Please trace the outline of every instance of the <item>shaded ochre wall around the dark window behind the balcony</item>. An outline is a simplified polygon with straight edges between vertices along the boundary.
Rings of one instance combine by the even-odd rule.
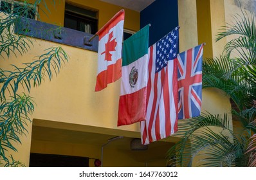
[[[64,26],[65,1],[56,1],[55,4],[51,3],[51,0],[46,0],[46,2],[48,2],[47,7],[50,12],[48,12],[42,2],[39,6],[41,21]],[[93,10],[98,10],[98,29],[102,28],[102,26],[104,26],[104,24],[109,21],[114,14],[122,10],[122,7],[120,6],[99,0],[69,0],[66,2],[80,6],[81,8],[92,8]],[[133,31],[140,30],[140,13],[127,8],[123,9],[125,10],[124,28]]]

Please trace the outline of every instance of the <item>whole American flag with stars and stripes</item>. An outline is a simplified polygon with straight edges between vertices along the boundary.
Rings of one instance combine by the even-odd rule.
[[[167,138],[178,129],[178,29],[149,47],[146,120],[141,122],[142,144]]]

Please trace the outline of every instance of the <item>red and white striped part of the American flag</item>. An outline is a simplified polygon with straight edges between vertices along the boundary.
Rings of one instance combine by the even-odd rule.
[[[146,120],[141,122],[142,143],[167,138],[178,130],[177,59],[155,73],[156,44],[149,48]]]

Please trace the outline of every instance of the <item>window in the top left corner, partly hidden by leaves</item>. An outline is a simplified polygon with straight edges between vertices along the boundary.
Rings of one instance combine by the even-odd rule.
[[[0,12],[19,14],[23,17],[36,19],[32,4],[22,3],[18,1],[0,0]]]

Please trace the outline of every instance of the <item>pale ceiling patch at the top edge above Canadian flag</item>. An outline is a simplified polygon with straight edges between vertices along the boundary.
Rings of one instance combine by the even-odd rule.
[[[155,0],[100,0],[106,3],[115,4],[123,8],[128,8],[137,12],[141,12],[149,4],[153,3]]]

